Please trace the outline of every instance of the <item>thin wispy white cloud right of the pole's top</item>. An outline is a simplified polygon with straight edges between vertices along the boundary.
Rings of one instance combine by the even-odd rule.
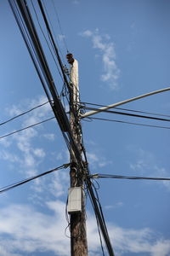
[[[110,40],[109,35],[99,34],[99,30],[95,32],[86,30],[81,33],[82,37],[91,38],[95,49],[99,49],[103,62],[104,73],[101,75],[101,80],[108,82],[111,90],[117,90],[117,80],[120,76],[120,70],[116,65],[115,45]]]

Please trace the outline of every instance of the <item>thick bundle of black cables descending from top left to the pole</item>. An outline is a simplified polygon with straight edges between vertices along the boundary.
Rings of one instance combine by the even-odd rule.
[[[59,102],[59,96],[55,88],[54,79],[48,68],[48,62],[43,53],[42,44],[40,43],[40,40],[37,36],[37,30],[34,26],[33,20],[31,19],[29,8],[26,5],[26,2],[20,0],[17,1],[18,8],[14,1],[8,0],[8,2],[11,6],[11,9],[13,10],[17,24],[20,27],[20,32],[31,55],[31,60],[34,63],[38,76],[42,82],[42,87],[45,90],[46,95],[48,96],[48,101],[50,102],[51,96],[54,100],[54,103],[50,102],[50,105],[54,111],[55,118],[58,120],[59,127],[63,133],[63,136],[65,137],[65,140],[67,140],[66,143],[69,144],[69,146],[70,144],[74,144],[74,149],[76,150],[76,145],[73,140],[71,139],[70,143],[68,138],[64,134],[65,132],[63,131],[64,129],[65,131],[67,131],[67,128],[69,130],[67,117],[64,113],[64,109],[62,108],[61,103]],[[50,91],[50,93],[48,92],[48,90]],[[63,125],[65,125],[65,128],[63,127]],[[68,137],[71,137],[70,132],[68,132]],[[69,150],[71,151],[71,148],[69,148]]]

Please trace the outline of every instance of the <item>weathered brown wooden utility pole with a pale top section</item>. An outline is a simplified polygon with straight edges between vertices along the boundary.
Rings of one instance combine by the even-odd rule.
[[[79,117],[79,90],[78,90],[78,63],[73,59],[71,54],[66,55],[68,62],[71,65],[70,70],[70,123],[71,131],[77,148],[82,154],[82,132]],[[71,256],[87,256],[88,242],[86,233],[86,212],[83,193],[83,170],[77,164],[77,159],[74,154],[71,154],[71,188],[81,188],[82,194],[82,211],[70,212],[71,215]]]

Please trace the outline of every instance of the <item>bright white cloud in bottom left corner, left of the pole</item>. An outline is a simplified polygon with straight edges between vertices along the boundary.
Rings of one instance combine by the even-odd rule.
[[[23,255],[51,250],[59,255],[69,255],[69,241],[64,235],[67,225],[63,214],[65,204],[55,201],[48,202],[47,206],[53,214],[46,215],[26,205],[12,205],[1,211],[0,233],[8,238],[2,236],[0,244],[6,246],[8,253]]]

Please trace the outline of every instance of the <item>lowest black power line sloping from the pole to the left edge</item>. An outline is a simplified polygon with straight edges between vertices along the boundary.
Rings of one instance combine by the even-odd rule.
[[[47,172],[42,172],[42,173],[40,173],[40,174],[38,174],[38,175],[36,175],[36,176],[28,177],[28,178],[26,178],[26,179],[21,180],[20,182],[10,184],[10,185],[8,185],[8,186],[5,186],[5,187],[1,188],[1,189],[0,189],[0,193],[3,193],[3,192],[8,191],[8,190],[10,190],[10,189],[14,189],[14,188],[16,188],[16,187],[19,187],[20,185],[25,184],[25,183],[29,183],[29,182],[31,182],[32,180],[36,179],[37,177],[42,177],[42,176],[45,176],[45,175],[47,175],[47,174],[49,174],[49,173],[51,173],[51,172],[55,172],[55,171],[58,171],[58,170],[60,170],[60,169],[65,169],[65,168],[67,168],[68,166],[70,166],[70,164],[65,164],[65,165],[56,167],[56,168],[54,168],[54,169],[52,169],[52,170],[49,170],[49,171],[47,171]]]

